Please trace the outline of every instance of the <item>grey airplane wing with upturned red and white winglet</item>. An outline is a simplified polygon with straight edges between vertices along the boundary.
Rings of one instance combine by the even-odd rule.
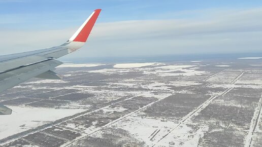
[[[72,53],[81,48],[101,9],[96,9],[64,44],[42,50],[0,56],[0,93],[31,78],[61,79],[52,71],[62,62],[59,57]],[[9,115],[12,110],[0,104],[0,115]]]

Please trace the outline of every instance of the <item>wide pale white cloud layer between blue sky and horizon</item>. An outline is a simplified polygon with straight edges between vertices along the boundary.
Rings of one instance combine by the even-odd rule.
[[[88,45],[70,57],[261,51],[262,8],[209,9],[198,13],[201,18],[99,23],[92,31]],[[59,45],[76,29],[1,31],[0,50],[14,53]]]

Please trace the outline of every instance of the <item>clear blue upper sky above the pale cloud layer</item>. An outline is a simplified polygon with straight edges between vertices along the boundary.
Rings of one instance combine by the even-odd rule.
[[[171,13],[203,9],[247,9],[262,6],[262,1],[252,0],[0,0],[0,14],[2,15],[36,15],[38,18],[26,18],[27,22],[67,21],[66,25],[53,24],[50,27],[67,27],[78,21],[83,21],[86,15],[97,8],[104,12],[99,22],[144,19],[176,19],[197,17],[194,15],[171,15]],[[205,14],[203,14],[205,15]],[[42,18],[42,19],[41,19]],[[26,23],[26,20],[24,20]],[[35,22],[37,23],[37,22]],[[59,23],[59,22],[58,22]],[[26,26],[24,26],[27,28]],[[19,27],[18,27],[19,28]]]

